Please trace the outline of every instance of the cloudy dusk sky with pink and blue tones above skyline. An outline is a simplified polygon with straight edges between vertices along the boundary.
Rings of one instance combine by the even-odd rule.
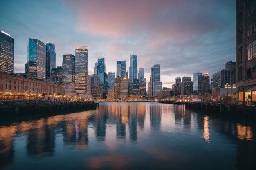
[[[161,65],[163,87],[175,77],[213,73],[235,61],[235,0],[1,0],[0,30],[15,39],[14,72],[25,72],[29,38],[52,41],[56,66],[75,46],[88,46],[88,74],[97,58],[106,73],[137,55],[137,68]]]

